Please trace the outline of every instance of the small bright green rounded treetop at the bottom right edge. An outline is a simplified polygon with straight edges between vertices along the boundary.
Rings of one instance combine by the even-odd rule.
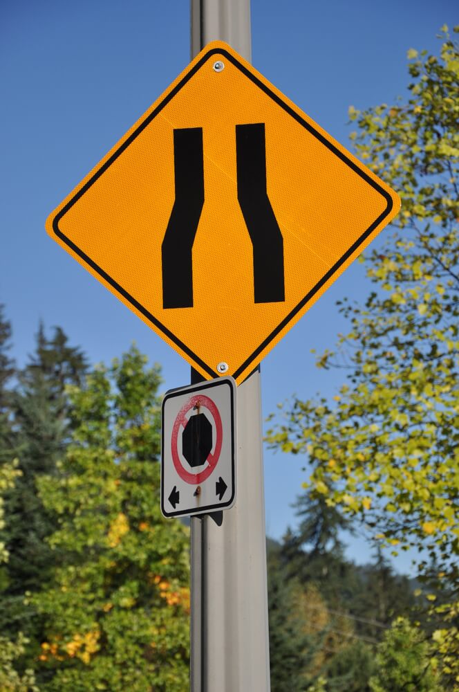
[[[429,644],[419,628],[398,618],[378,646],[372,692],[441,692],[429,656]]]

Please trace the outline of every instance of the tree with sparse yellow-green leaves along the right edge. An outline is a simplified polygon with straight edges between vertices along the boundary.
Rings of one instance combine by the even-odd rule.
[[[270,444],[306,453],[307,492],[355,516],[381,545],[422,551],[438,590],[457,589],[459,51],[443,28],[440,56],[409,51],[410,97],[357,111],[360,158],[402,198],[393,233],[366,259],[364,306],[344,301],[351,331],[319,367],[349,377],[336,403],[295,399]],[[451,606],[451,608],[453,608]],[[446,617],[440,613],[440,617]],[[446,618],[448,620],[448,618]],[[459,660],[457,628],[449,657]],[[445,655],[444,655],[445,656]],[[443,660],[445,661],[445,657]],[[445,664],[450,684],[459,670]]]

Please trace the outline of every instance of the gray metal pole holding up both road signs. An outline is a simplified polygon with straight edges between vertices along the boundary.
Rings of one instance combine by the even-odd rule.
[[[223,40],[251,60],[250,0],[191,0],[191,57]],[[237,500],[191,518],[191,692],[269,692],[260,372],[238,387]]]

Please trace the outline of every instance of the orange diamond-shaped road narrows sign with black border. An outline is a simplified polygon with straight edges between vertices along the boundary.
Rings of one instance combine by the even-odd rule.
[[[391,188],[214,42],[46,229],[206,379],[225,362],[240,383],[399,208]]]

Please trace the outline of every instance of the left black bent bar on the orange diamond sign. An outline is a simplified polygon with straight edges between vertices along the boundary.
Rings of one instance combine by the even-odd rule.
[[[174,129],[176,199],[162,241],[162,307],[193,307],[192,250],[204,205],[203,128]]]

